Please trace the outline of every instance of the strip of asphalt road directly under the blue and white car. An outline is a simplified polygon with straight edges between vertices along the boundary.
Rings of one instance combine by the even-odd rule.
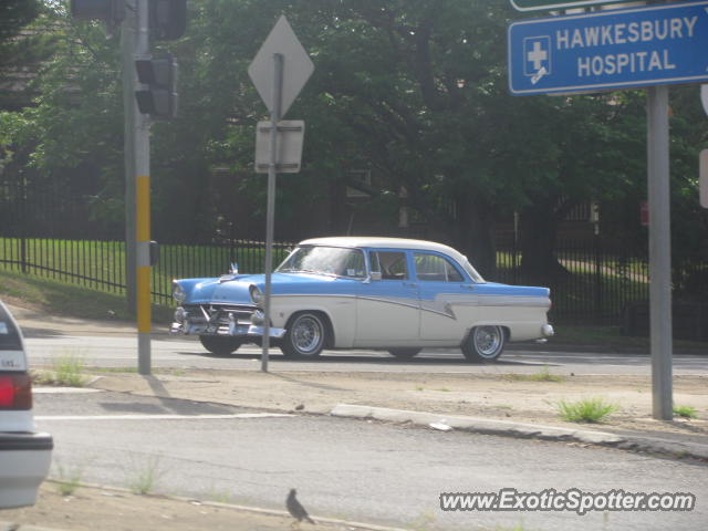
[[[520,348],[520,350],[519,350]],[[27,340],[30,364],[50,364],[62,356],[81,357],[95,366],[137,366],[135,336],[54,335]],[[229,357],[217,357],[204,350],[195,337],[170,339],[157,336],[152,342],[155,367],[194,367],[252,369],[260,367],[261,348],[247,345]],[[465,363],[459,350],[426,351],[410,361],[402,362],[387,353],[374,351],[325,352],[321,360],[302,362],[284,360],[280,350],[271,350],[273,371],[395,371],[456,373],[534,373],[549,365],[556,373],[575,374],[637,374],[649,375],[647,354],[597,354],[577,352],[524,351],[523,346],[508,350],[494,364]],[[708,356],[675,355],[674,374],[708,374]]]

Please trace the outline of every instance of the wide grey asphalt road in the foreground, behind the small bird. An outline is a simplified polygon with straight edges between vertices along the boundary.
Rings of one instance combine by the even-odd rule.
[[[558,442],[441,433],[173,398],[35,395],[55,438],[53,476],[283,509],[288,489],[315,516],[410,529],[704,530],[705,464]],[[126,416],[131,416],[126,418]],[[61,470],[61,471],[60,471]],[[144,480],[145,481],[145,480]],[[440,492],[691,492],[691,512],[444,512]]]

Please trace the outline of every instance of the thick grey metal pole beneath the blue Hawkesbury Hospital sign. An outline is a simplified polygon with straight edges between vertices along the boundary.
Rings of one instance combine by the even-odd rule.
[[[669,196],[668,87],[647,90],[649,191],[649,305],[652,329],[653,416],[670,420],[671,389],[671,246]]]

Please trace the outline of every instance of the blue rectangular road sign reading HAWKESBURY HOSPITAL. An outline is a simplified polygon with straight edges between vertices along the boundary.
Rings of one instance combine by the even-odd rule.
[[[512,94],[598,92],[708,80],[708,1],[509,25]]]

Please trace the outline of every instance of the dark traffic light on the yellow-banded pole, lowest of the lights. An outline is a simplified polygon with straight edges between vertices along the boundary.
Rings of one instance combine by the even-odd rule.
[[[177,116],[177,61],[171,55],[135,61],[137,79],[147,88],[135,91],[137,107],[155,119]]]

